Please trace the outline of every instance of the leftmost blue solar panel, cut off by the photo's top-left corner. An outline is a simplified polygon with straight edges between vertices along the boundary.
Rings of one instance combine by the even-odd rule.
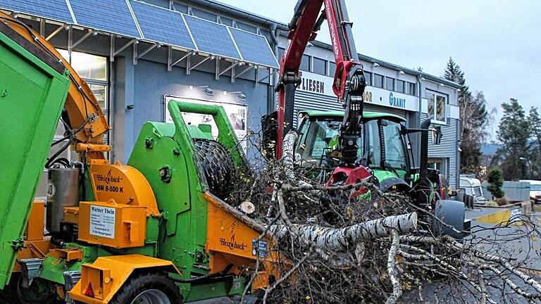
[[[0,0],[0,8],[35,15],[64,23],[73,23],[66,1],[58,0]]]

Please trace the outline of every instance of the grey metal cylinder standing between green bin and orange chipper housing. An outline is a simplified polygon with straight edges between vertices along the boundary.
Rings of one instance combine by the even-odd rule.
[[[46,227],[51,234],[61,232],[64,208],[79,205],[79,174],[75,168],[49,169]]]

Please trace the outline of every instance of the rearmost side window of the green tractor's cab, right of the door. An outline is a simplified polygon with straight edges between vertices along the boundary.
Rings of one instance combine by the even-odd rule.
[[[400,170],[406,170],[406,151],[404,149],[400,125],[387,121],[383,125],[383,139],[385,142],[385,163]]]

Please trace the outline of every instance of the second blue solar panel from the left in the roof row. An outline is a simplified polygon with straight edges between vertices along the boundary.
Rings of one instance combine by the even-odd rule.
[[[125,0],[70,0],[78,25],[140,38]]]

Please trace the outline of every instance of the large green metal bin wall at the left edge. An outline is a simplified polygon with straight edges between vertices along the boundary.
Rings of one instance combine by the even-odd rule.
[[[17,252],[13,248],[23,246],[28,214],[70,84],[63,65],[43,60],[43,51],[1,30],[0,289],[11,277]]]

